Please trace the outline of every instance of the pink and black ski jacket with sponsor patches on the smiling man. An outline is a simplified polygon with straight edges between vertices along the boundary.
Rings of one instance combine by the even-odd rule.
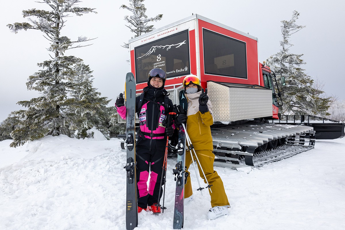
[[[136,97],[136,112],[140,124],[136,146],[150,150],[164,149],[167,137],[163,124],[166,122],[169,112],[173,110],[172,101],[169,98],[165,99],[168,94],[165,89],[157,90],[145,87],[143,91],[144,99],[142,102],[140,102],[140,96]],[[140,104],[141,106],[138,108]],[[121,118],[126,119],[126,107],[116,108]],[[174,123],[171,124],[174,127]]]

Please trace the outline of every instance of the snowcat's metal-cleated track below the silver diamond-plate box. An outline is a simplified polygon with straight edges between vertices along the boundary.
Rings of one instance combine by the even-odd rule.
[[[211,128],[215,166],[261,167],[314,148],[312,127],[250,124]]]

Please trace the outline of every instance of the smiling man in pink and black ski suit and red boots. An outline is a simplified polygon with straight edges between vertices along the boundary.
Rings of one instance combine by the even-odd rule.
[[[169,112],[172,112],[172,101],[164,89],[166,73],[162,69],[152,69],[148,75],[147,87],[136,97],[136,112],[139,118],[140,132],[136,142],[136,177],[138,212],[152,210],[160,212],[157,203],[160,200],[159,189],[162,177],[167,136],[172,136],[175,125],[165,127]],[[124,99],[116,100],[117,112],[126,119]],[[149,171],[151,173],[149,174]],[[147,181],[150,177],[149,186]],[[162,180],[162,185],[164,180]],[[161,196],[162,193],[160,193]]]

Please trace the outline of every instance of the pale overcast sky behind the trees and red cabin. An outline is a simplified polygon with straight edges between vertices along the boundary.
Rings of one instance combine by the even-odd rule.
[[[72,41],[78,36],[96,38],[92,46],[71,49],[65,55],[73,55],[84,60],[93,70],[94,87],[102,96],[113,99],[124,90],[125,74],[130,71],[128,50],[120,45],[134,36],[123,17],[129,11],[120,9],[128,0],[82,1],[80,7],[96,8],[97,14],[73,16],[65,23],[61,35]],[[304,54],[307,63],[305,72],[324,82],[323,90],[328,96],[345,99],[345,1],[340,0],[266,0],[266,1],[224,1],[224,0],[174,0],[144,1],[148,17],[162,13],[163,18],[155,22],[155,28],[164,27],[192,13],[225,24],[258,38],[259,60],[264,61],[280,49],[282,39],[281,20],[290,20],[292,12],[300,13],[298,25],[306,26],[291,37],[294,47],[292,53]],[[37,63],[50,59],[46,48],[49,42],[42,32],[36,30],[20,31],[14,34],[6,27],[9,23],[27,22],[21,15],[22,10],[47,9],[45,4],[33,0],[8,1],[2,4],[0,15],[1,34],[1,83],[0,83],[0,121],[7,118],[11,111],[22,109],[18,101],[37,97],[36,91],[28,91],[28,77],[40,68]]]

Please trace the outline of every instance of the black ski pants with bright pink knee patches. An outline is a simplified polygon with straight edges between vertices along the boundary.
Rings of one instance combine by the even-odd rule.
[[[160,180],[162,177],[162,167],[164,161],[165,149],[145,149],[136,147],[136,177],[137,177],[137,197],[138,207],[147,208],[152,204],[158,203],[162,197],[163,190],[161,188]],[[149,186],[147,187],[147,181]],[[164,178],[162,185],[164,184]]]

